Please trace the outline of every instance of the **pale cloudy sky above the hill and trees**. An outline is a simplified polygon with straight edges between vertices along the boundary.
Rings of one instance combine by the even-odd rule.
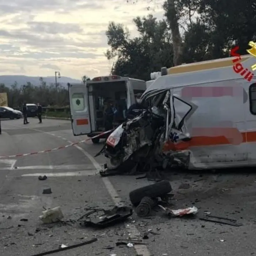
[[[149,1],[0,0],[0,75],[108,75],[108,23],[123,23],[136,36],[133,18],[163,17],[161,0],[148,10]]]

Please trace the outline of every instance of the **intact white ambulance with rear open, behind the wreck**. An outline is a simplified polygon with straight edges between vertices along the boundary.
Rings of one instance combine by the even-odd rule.
[[[146,90],[143,80],[117,75],[98,76],[85,84],[68,84],[72,129],[75,136],[87,135],[93,143],[107,138],[104,133],[104,110],[106,101],[111,101],[125,118],[126,110],[135,103],[134,95]]]

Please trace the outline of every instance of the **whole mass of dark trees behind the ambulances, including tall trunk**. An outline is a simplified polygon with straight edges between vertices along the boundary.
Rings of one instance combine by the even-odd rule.
[[[133,20],[135,38],[122,24],[110,23],[106,57],[112,73],[149,80],[162,66],[228,57],[234,45],[247,54],[248,42],[256,40],[255,0],[166,0],[163,9],[164,20]]]

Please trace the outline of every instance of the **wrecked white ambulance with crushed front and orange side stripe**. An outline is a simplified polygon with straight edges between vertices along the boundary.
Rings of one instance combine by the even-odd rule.
[[[249,68],[255,60],[241,62]],[[232,58],[167,73],[142,95],[148,110],[117,127],[99,154],[121,170],[131,162],[145,171],[173,162],[188,169],[255,165],[256,79],[234,73]]]

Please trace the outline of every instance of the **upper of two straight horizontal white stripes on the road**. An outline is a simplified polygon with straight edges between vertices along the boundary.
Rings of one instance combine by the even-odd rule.
[[[16,170],[91,170],[91,165],[32,165],[17,166]]]

